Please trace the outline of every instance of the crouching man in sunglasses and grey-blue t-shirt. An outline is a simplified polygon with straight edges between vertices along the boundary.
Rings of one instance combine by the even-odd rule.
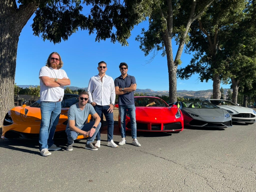
[[[87,138],[87,142],[85,145],[86,149],[96,151],[97,147],[94,147],[92,142],[96,137],[101,123],[100,116],[96,113],[93,106],[88,104],[89,94],[86,91],[83,91],[79,94],[79,102],[73,104],[68,110],[68,124],[66,127],[66,133],[68,136],[68,145],[67,150],[73,150],[73,143],[76,140],[78,134],[82,134],[84,137],[89,136]],[[87,118],[91,114],[95,121],[87,122]]]

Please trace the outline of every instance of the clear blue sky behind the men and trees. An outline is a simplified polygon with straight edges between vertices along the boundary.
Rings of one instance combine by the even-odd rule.
[[[48,55],[56,51],[60,54],[64,65],[62,69],[67,72],[71,85],[79,88],[88,87],[89,79],[98,74],[99,61],[107,63],[106,74],[113,79],[120,76],[119,64],[126,62],[129,66],[128,74],[134,76],[137,89],[152,89],[154,91],[169,90],[166,57],[158,52],[154,60],[148,63],[152,55],[144,56],[135,37],[140,34],[141,28],[147,28],[146,22],[138,25],[128,39],[129,46],[122,47],[118,42],[110,40],[95,42],[95,35],[88,35],[88,31],[78,31],[70,36],[67,41],[54,45],[50,41],[43,41],[41,37],[33,36],[30,18],[19,37],[15,83],[17,85],[39,85],[39,70],[45,66]],[[174,56],[177,46],[173,44]],[[181,60],[185,67],[191,55],[183,52]],[[223,85],[230,88],[230,85]],[[207,90],[212,89],[212,81],[200,82],[198,75],[193,75],[189,80],[177,79],[177,90]]]

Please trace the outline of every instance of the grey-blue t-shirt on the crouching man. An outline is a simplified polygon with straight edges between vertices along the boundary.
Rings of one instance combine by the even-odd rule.
[[[75,120],[75,126],[79,129],[87,122],[89,114],[93,115],[96,111],[93,106],[89,103],[85,105],[85,108],[81,110],[78,103],[73,104],[68,110],[68,120]],[[67,124],[66,130],[69,129],[69,124]]]

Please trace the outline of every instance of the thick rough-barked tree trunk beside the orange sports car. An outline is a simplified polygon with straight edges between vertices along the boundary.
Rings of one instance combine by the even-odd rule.
[[[0,2],[0,127],[8,110],[14,107],[14,79],[19,35],[38,7],[38,2],[20,5]]]

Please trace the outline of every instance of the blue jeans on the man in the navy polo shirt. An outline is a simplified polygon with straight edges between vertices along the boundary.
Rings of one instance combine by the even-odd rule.
[[[126,119],[126,110],[130,116],[131,121],[131,133],[132,138],[137,138],[137,125],[136,125],[136,113],[135,105],[119,105],[118,106],[119,115],[120,115],[120,125],[121,125],[121,136],[125,138],[125,119]]]

